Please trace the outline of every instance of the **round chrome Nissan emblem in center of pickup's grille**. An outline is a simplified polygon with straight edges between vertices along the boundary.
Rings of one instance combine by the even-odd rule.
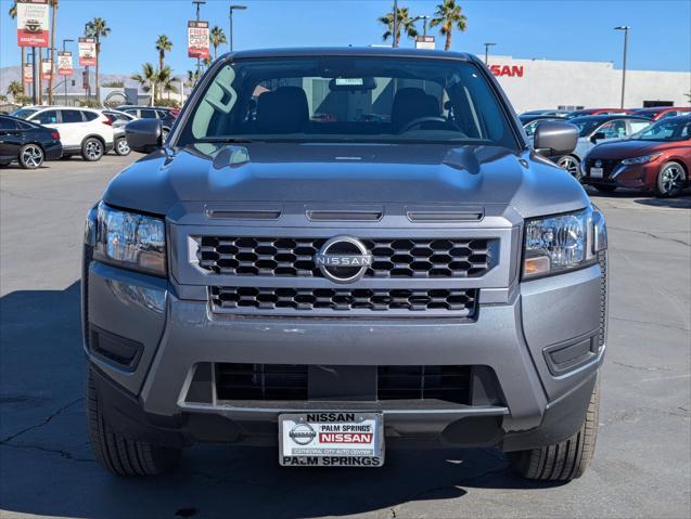
[[[324,277],[334,283],[354,283],[372,264],[372,255],[359,239],[335,236],[315,255],[315,264]]]

